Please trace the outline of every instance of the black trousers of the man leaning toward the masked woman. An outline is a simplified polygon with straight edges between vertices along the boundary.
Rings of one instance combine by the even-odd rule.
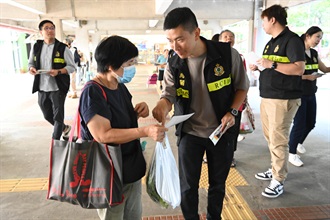
[[[221,219],[226,179],[233,159],[234,136],[228,136],[222,136],[216,146],[208,138],[189,134],[182,136],[179,144],[179,175],[181,209],[186,220],[199,220],[198,188],[204,151],[209,176],[207,219]]]

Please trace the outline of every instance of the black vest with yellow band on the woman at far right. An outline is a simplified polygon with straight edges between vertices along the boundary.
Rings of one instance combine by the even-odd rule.
[[[319,70],[318,54],[314,49],[311,50],[311,57],[305,54],[305,73],[304,75],[310,75]],[[303,95],[314,95],[317,91],[316,79],[314,81],[302,80],[303,85]]]

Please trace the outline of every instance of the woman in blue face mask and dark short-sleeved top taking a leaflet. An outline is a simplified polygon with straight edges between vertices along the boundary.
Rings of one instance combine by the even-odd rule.
[[[138,49],[126,38],[111,36],[102,40],[95,50],[98,73],[80,97],[82,138],[121,144],[124,201],[111,208],[98,209],[102,220],[141,219],[141,178],[145,175],[146,162],[139,138],[162,141],[167,131],[158,124],[138,127],[138,117],[147,117],[149,109],[145,102],[133,107],[132,95],[124,85],[135,75],[137,56]]]

